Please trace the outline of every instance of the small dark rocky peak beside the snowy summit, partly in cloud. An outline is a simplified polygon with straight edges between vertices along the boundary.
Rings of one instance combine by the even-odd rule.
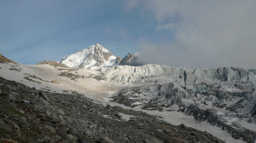
[[[138,57],[132,55],[131,53],[128,53],[119,63],[119,65],[128,65],[128,66],[142,66],[146,64],[147,64],[146,62],[138,60]]]

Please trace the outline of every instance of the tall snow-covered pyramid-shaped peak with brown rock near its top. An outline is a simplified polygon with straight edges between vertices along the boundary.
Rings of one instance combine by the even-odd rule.
[[[99,69],[115,64],[116,57],[100,44],[92,45],[86,49],[67,55],[60,63],[69,67]]]

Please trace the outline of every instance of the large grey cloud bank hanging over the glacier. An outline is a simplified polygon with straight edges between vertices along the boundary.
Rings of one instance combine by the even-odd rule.
[[[155,31],[172,32],[173,40],[142,37],[145,60],[185,67],[256,68],[256,1],[130,1],[126,9],[152,13]],[[164,39],[164,37],[162,37]]]

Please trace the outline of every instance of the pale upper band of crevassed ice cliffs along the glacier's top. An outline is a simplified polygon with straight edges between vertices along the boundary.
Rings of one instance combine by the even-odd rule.
[[[95,75],[98,78],[104,78],[106,81],[138,83],[143,84],[140,79],[149,77],[172,77],[175,82],[183,86],[193,86],[202,82],[226,82],[234,83],[239,80],[240,88],[243,90],[252,90],[256,84],[251,83],[251,87],[243,87],[243,82],[255,81],[256,74],[253,70],[245,70],[236,67],[221,68],[186,68],[186,67],[169,67],[166,65],[148,64],[143,66],[114,66],[106,71]]]

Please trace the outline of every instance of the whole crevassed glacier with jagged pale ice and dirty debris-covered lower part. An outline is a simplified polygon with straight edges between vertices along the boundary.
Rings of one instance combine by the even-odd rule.
[[[253,142],[256,138],[254,131],[236,122],[256,124],[254,69],[125,65],[111,67],[92,77],[137,84],[124,88],[113,98],[114,102],[130,107],[140,105],[147,110],[182,111],[194,116],[196,121],[208,121],[222,127],[236,139]]]

